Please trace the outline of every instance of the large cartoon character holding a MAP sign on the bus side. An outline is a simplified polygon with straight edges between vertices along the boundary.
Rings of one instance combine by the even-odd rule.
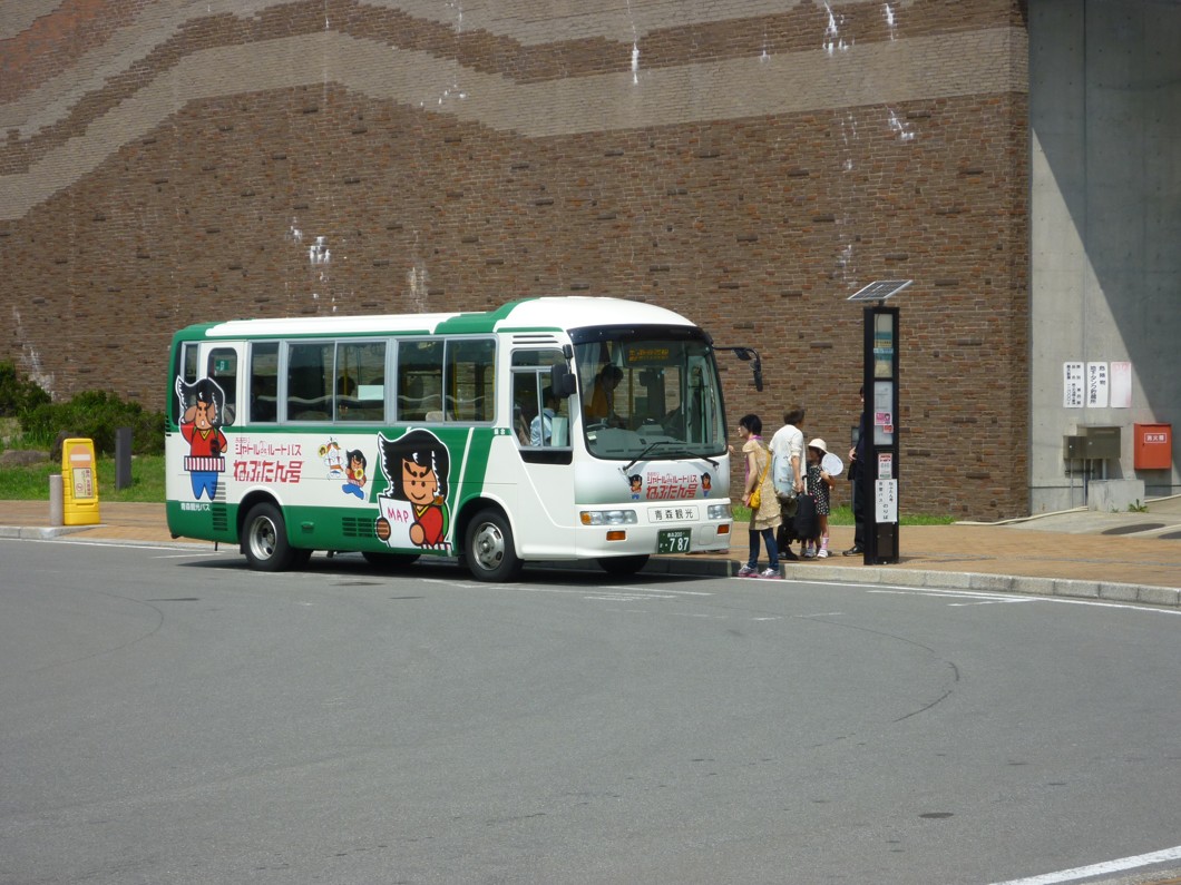
[[[448,549],[446,446],[430,431],[415,430],[398,439],[378,434],[378,447],[390,487],[378,496],[377,536],[391,548]]]

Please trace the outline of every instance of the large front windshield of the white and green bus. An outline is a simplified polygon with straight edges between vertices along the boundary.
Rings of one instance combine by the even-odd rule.
[[[592,455],[632,460],[725,452],[713,349],[700,334],[686,333],[635,326],[572,333]]]

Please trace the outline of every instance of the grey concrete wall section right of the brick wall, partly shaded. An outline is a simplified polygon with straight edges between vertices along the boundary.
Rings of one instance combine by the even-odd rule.
[[[1063,435],[1118,426],[1096,478],[1181,492],[1181,4],[1030,4],[1033,512],[1085,502]],[[1128,407],[1064,405],[1064,363],[1130,366]],[[1136,471],[1134,425],[1172,424],[1170,471]]]

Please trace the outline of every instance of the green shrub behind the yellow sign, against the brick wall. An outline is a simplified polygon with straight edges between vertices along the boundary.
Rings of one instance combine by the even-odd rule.
[[[22,413],[20,424],[26,439],[38,440],[46,448],[64,431],[93,440],[99,454],[113,454],[115,432],[130,427],[135,454],[164,452],[164,415],[105,391],[86,391],[68,402],[43,402]]]

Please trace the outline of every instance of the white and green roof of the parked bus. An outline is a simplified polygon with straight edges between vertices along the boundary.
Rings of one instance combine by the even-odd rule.
[[[229,320],[182,329],[188,339],[241,339],[319,335],[479,334],[491,332],[559,330],[587,326],[642,323],[692,326],[680,314],[626,299],[566,295],[510,301],[494,310],[433,314],[374,314],[357,316],[298,316]]]

